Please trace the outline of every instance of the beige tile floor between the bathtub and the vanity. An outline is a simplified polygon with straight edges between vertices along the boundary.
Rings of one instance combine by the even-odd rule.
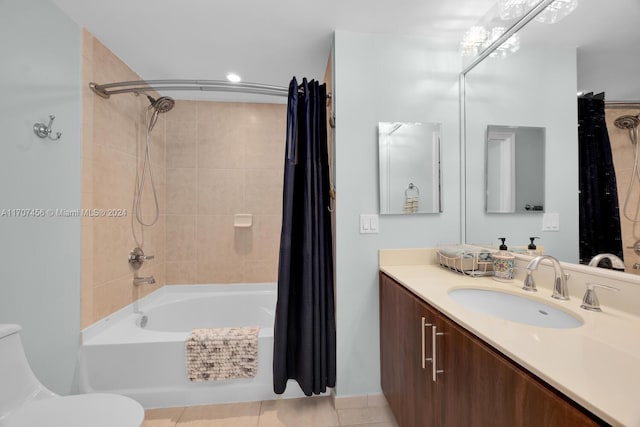
[[[397,427],[388,406],[335,409],[331,397],[149,409],[144,427]]]

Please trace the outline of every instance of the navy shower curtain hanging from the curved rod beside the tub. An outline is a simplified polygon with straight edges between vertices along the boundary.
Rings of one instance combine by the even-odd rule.
[[[294,379],[305,395],[336,381],[326,87],[289,84],[273,389]]]

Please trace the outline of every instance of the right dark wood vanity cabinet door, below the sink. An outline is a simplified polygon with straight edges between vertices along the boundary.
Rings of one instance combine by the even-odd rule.
[[[601,421],[442,316],[437,389],[442,426],[571,427]]]

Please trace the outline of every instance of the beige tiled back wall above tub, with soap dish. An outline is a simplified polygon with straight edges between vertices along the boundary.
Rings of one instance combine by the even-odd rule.
[[[286,106],[178,101],[166,123],[167,283],[276,281]]]

